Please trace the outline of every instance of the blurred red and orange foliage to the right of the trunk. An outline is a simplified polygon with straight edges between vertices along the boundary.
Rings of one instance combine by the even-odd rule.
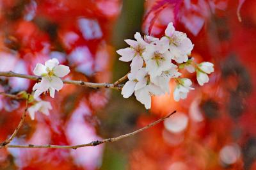
[[[178,111],[175,122],[140,137],[131,169],[255,169],[256,1],[152,0],[145,8],[146,34],[163,36],[174,22],[195,44],[195,60],[213,62],[215,72],[204,87],[191,77],[196,90],[186,100],[153,99],[156,115]]]

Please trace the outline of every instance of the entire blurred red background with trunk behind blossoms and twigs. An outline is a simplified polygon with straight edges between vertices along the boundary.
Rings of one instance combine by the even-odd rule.
[[[177,110],[138,135],[100,146],[0,150],[0,169],[256,169],[255,0],[0,0],[0,71],[33,74],[58,58],[66,79],[113,82],[129,64],[115,50],[139,31],[163,36],[169,22],[187,33],[195,61],[214,63],[204,86],[175,102],[153,97],[147,111],[120,91],[66,84],[50,116],[28,116],[13,144],[88,143],[126,134]],[[0,91],[31,93],[35,81],[0,77]],[[173,91],[174,82],[170,82]],[[171,93],[172,94],[172,93]],[[12,134],[25,103],[0,96],[0,141]]]

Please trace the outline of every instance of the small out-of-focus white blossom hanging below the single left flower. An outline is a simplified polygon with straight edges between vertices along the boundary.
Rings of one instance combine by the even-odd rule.
[[[34,105],[31,105],[28,108],[28,113],[31,120],[35,119],[35,112],[42,112],[45,115],[49,115],[49,110],[52,109],[52,105],[50,102],[45,102],[37,98],[37,102]]]

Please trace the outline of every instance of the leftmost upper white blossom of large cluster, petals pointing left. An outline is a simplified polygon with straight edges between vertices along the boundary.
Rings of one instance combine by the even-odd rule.
[[[146,46],[148,45],[147,42],[141,38],[140,33],[135,33],[134,38],[137,41],[134,40],[125,40],[127,44],[129,44],[131,47],[127,47],[125,49],[116,50],[116,52],[122,56],[119,58],[120,61],[129,62],[131,63],[131,69],[132,70],[138,70],[143,66],[143,52],[146,49]]]

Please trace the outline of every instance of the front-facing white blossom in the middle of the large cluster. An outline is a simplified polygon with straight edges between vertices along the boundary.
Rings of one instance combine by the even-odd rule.
[[[172,66],[172,54],[170,54],[168,49],[164,50],[161,43],[148,45],[144,54],[146,69],[148,74],[153,77],[161,75],[163,71],[168,70]]]

